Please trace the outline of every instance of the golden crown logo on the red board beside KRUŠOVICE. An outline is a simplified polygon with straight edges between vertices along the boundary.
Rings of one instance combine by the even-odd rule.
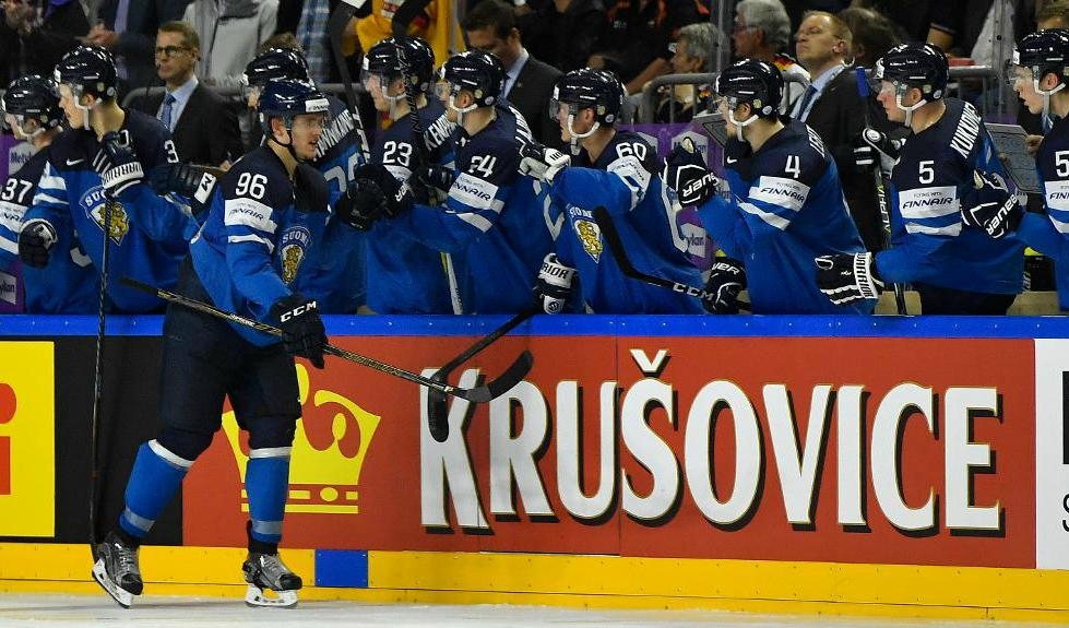
[[[302,417],[294,436],[286,512],[356,514],[360,511],[357,503],[360,471],[381,417],[334,391],[311,391],[308,369],[301,364],[296,366]],[[241,436],[233,411],[223,415],[223,430],[244,485],[249,461],[248,437]],[[241,511],[249,511],[245,488]]]

